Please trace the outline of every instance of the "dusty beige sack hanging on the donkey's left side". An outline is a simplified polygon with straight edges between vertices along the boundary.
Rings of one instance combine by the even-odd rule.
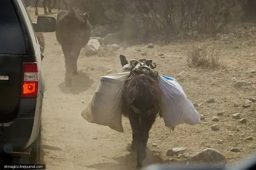
[[[93,98],[82,112],[88,122],[123,132],[122,91],[130,72],[102,76]]]

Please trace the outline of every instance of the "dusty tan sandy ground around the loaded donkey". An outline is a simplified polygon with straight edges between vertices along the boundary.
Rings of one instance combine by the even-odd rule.
[[[34,18],[34,11],[30,10]],[[124,119],[125,132],[122,134],[106,126],[88,123],[81,117],[81,112],[96,90],[100,76],[120,70],[120,54],[133,59],[144,58],[143,52],[146,52],[146,58],[156,62],[160,74],[176,77],[183,72],[178,78],[179,82],[191,101],[199,105],[199,114],[205,116],[201,125],[179,125],[173,132],[164,126],[163,119],[157,118],[150,131],[145,165],[163,161],[182,162],[182,158],[165,156],[166,151],[173,147],[186,147],[184,157],[205,148],[218,149],[226,156],[228,164],[255,151],[256,104],[242,108],[244,99],[256,96],[256,74],[251,72],[256,69],[254,39],[248,41],[231,37],[222,41],[173,42],[169,45],[156,44],[153,49],[145,45],[122,46],[117,51],[105,46],[98,55],[90,57],[85,55],[83,49],[78,59],[79,75],[74,77],[72,88],[65,88],[61,46],[55,33],[45,33],[44,36],[46,56],[42,65],[46,91],[42,113],[42,149],[47,169],[135,169],[136,157],[127,151],[132,138],[129,122]],[[214,71],[189,68],[187,52],[193,45],[211,46],[218,51],[223,67]],[[247,85],[236,89],[234,77],[246,81]],[[215,102],[207,103],[209,98],[215,98]],[[234,103],[238,106],[234,107]],[[212,116],[217,116],[218,112],[224,114],[218,116],[219,122],[212,122]],[[232,118],[232,114],[237,112],[247,118],[246,124]],[[221,129],[212,131],[210,126],[213,124],[219,124]],[[248,136],[254,140],[245,140]],[[217,144],[218,139],[223,144]],[[231,152],[234,147],[241,149],[241,152]]]

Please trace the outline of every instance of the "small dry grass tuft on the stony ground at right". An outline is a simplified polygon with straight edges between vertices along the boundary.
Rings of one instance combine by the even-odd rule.
[[[188,52],[188,65],[190,67],[219,68],[222,65],[220,51],[214,47],[193,46],[192,50]]]

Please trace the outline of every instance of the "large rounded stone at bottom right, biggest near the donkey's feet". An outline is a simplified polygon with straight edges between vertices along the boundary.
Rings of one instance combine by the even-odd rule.
[[[216,149],[207,148],[197,154],[193,155],[188,164],[214,164],[214,165],[226,165],[227,159],[225,156]]]

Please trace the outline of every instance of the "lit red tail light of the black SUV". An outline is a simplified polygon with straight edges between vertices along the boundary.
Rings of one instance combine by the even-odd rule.
[[[37,98],[38,84],[39,75],[37,62],[24,62],[21,98]]]

